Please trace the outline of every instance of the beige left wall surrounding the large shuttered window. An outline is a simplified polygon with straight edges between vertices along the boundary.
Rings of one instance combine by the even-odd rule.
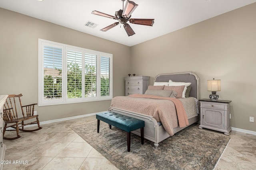
[[[114,96],[123,96],[130,47],[0,8],[0,94],[38,102],[38,38],[113,54]],[[86,29],[86,28],[85,28]],[[120,64],[128,63],[128,64]],[[111,100],[36,107],[40,121],[107,110]]]

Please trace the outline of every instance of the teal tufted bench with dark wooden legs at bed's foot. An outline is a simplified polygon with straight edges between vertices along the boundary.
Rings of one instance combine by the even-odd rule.
[[[118,113],[114,113],[111,111],[96,113],[97,119],[97,133],[99,133],[100,129],[100,120],[108,123],[109,129],[111,129],[111,125],[127,132],[127,150],[130,152],[131,146],[131,131],[140,128],[140,138],[141,144],[144,144],[144,121],[140,119],[135,119],[133,117],[128,117],[125,115],[120,115]]]

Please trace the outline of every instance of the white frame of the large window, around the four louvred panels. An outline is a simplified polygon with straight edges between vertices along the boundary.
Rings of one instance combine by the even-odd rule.
[[[50,47],[58,47],[62,49],[62,98],[61,99],[44,99],[44,45]],[[97,55],[97,95],[94,97],[85,97],[84,86],[82,86],[82,98],[68,98],[67,96],[67,51],[75,50],[82,52],[82,67],[84,68],[84,54],[94,54]],[[110,59],[110,94],[109,96],[100,96],[100,57],[108,57]],[[83,71],[84,77],[84,71]],[[38,39],[38,106],[48,106],[56,104],[70,104],[79,102],[91,102],[91,101],[101,101],[101,100],[111,100],[113,98],[113,55],[109,53],[103,53],[100,51],[94,51],[90,49],[84,49],[81,47],[75,47],[72,45],[66,45],[62,43],[56,43],[53,41],[48,41],[44,39]]]

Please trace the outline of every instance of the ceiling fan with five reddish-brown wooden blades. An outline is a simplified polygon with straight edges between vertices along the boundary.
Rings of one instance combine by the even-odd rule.
[[[127,0],[125,7],[124,7],[125,0],[121,0],[121,1],[123,2],[123,9],[116,11],[115,16],[111,16],[111,15],[108,15],[108,14],[105,14],[105,13],[102,13],[99,11],[95,11],[95,10],[92,11],[92,14],[104,16],[107,18],[112,18],[114,20],[118,20],[118,22],[115,22],[111,25],[108,25],[105,28],[100,29],[100,31],[108,31],[109,29],[115,27],[116,25],[119,25],[119,23],[122,23],[122,24],[124,24],[124,29],[125,29],[126,33],[128,34],[128,36],[131,36],[131,35],[134,35],[135,32],[132,30],[132,27],[130,27],[130,25],[127,23],[128,21],[130,21],[130,23],[134,23],[134,24],[153,26],[154,19],[131,18],[131,14],[137,8],[138,4],[136,4],[133,1]]]

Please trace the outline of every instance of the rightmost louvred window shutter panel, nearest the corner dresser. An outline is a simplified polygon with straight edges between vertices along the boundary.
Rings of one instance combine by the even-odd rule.
[[[109,57],[100,57],[100,96],[110,96]]]

